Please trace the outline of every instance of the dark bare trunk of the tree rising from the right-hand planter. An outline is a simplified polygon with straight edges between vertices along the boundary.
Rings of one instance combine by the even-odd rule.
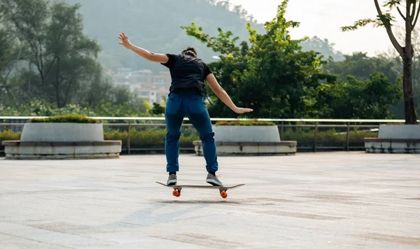
[[[413,54],[412,48],[404,48],[404,56],[402,57],[403,78],[402,87],[404,91],[405,106],[405,124],[417,124],[416,111],[414,109],[413,87],[412,87],[412,71],[413,71]]]

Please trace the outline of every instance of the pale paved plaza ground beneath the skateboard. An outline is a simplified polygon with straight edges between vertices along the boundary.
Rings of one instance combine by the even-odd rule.
[[[165,182],[164,155],[0,159],[0,248],[420,248],[420,155],[219,157],[228,190]],[[206,184],[181,155],[179,184]]]

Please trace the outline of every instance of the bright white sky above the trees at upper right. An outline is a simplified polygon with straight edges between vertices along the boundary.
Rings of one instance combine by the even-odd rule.
[[[261,23],[272,20],[281,2],[230,0],[232,4],[243,6]],[[290,0],[286,12],[288,20],[300,22],[299,28],[290,31],[292,38],[327,38],[330,43],[335,43],[335,50],[344,54],[361,51],[370,56],[393,49],[384,28],[375,28],[370,24],[357,31],[342,32],[340,27],[349,26],[361,18],[374,18],[376,15],[373,0]],[[398,20],[401,19],[398,15]]]

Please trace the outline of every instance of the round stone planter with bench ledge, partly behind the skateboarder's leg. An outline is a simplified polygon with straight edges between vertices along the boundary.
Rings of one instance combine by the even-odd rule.
[[[217,155],[294,155],[296,141],[280,141],[279,128],[270,126],[214,126]],[[194,141],[195,154],[203,155],[202,141]]]

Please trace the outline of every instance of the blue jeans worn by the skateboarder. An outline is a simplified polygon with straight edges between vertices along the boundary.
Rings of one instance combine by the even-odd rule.
[[[179,171],[179,137],[183,118],[188,117],[198,131],[203,146],[207,171],[218,170],[216,143],[211,127],[209,112],[204,97],[194,89],[183,89],[171,92],[165,109],[167,136],[165,139],[165,154],[167,157],[167,172]]]

